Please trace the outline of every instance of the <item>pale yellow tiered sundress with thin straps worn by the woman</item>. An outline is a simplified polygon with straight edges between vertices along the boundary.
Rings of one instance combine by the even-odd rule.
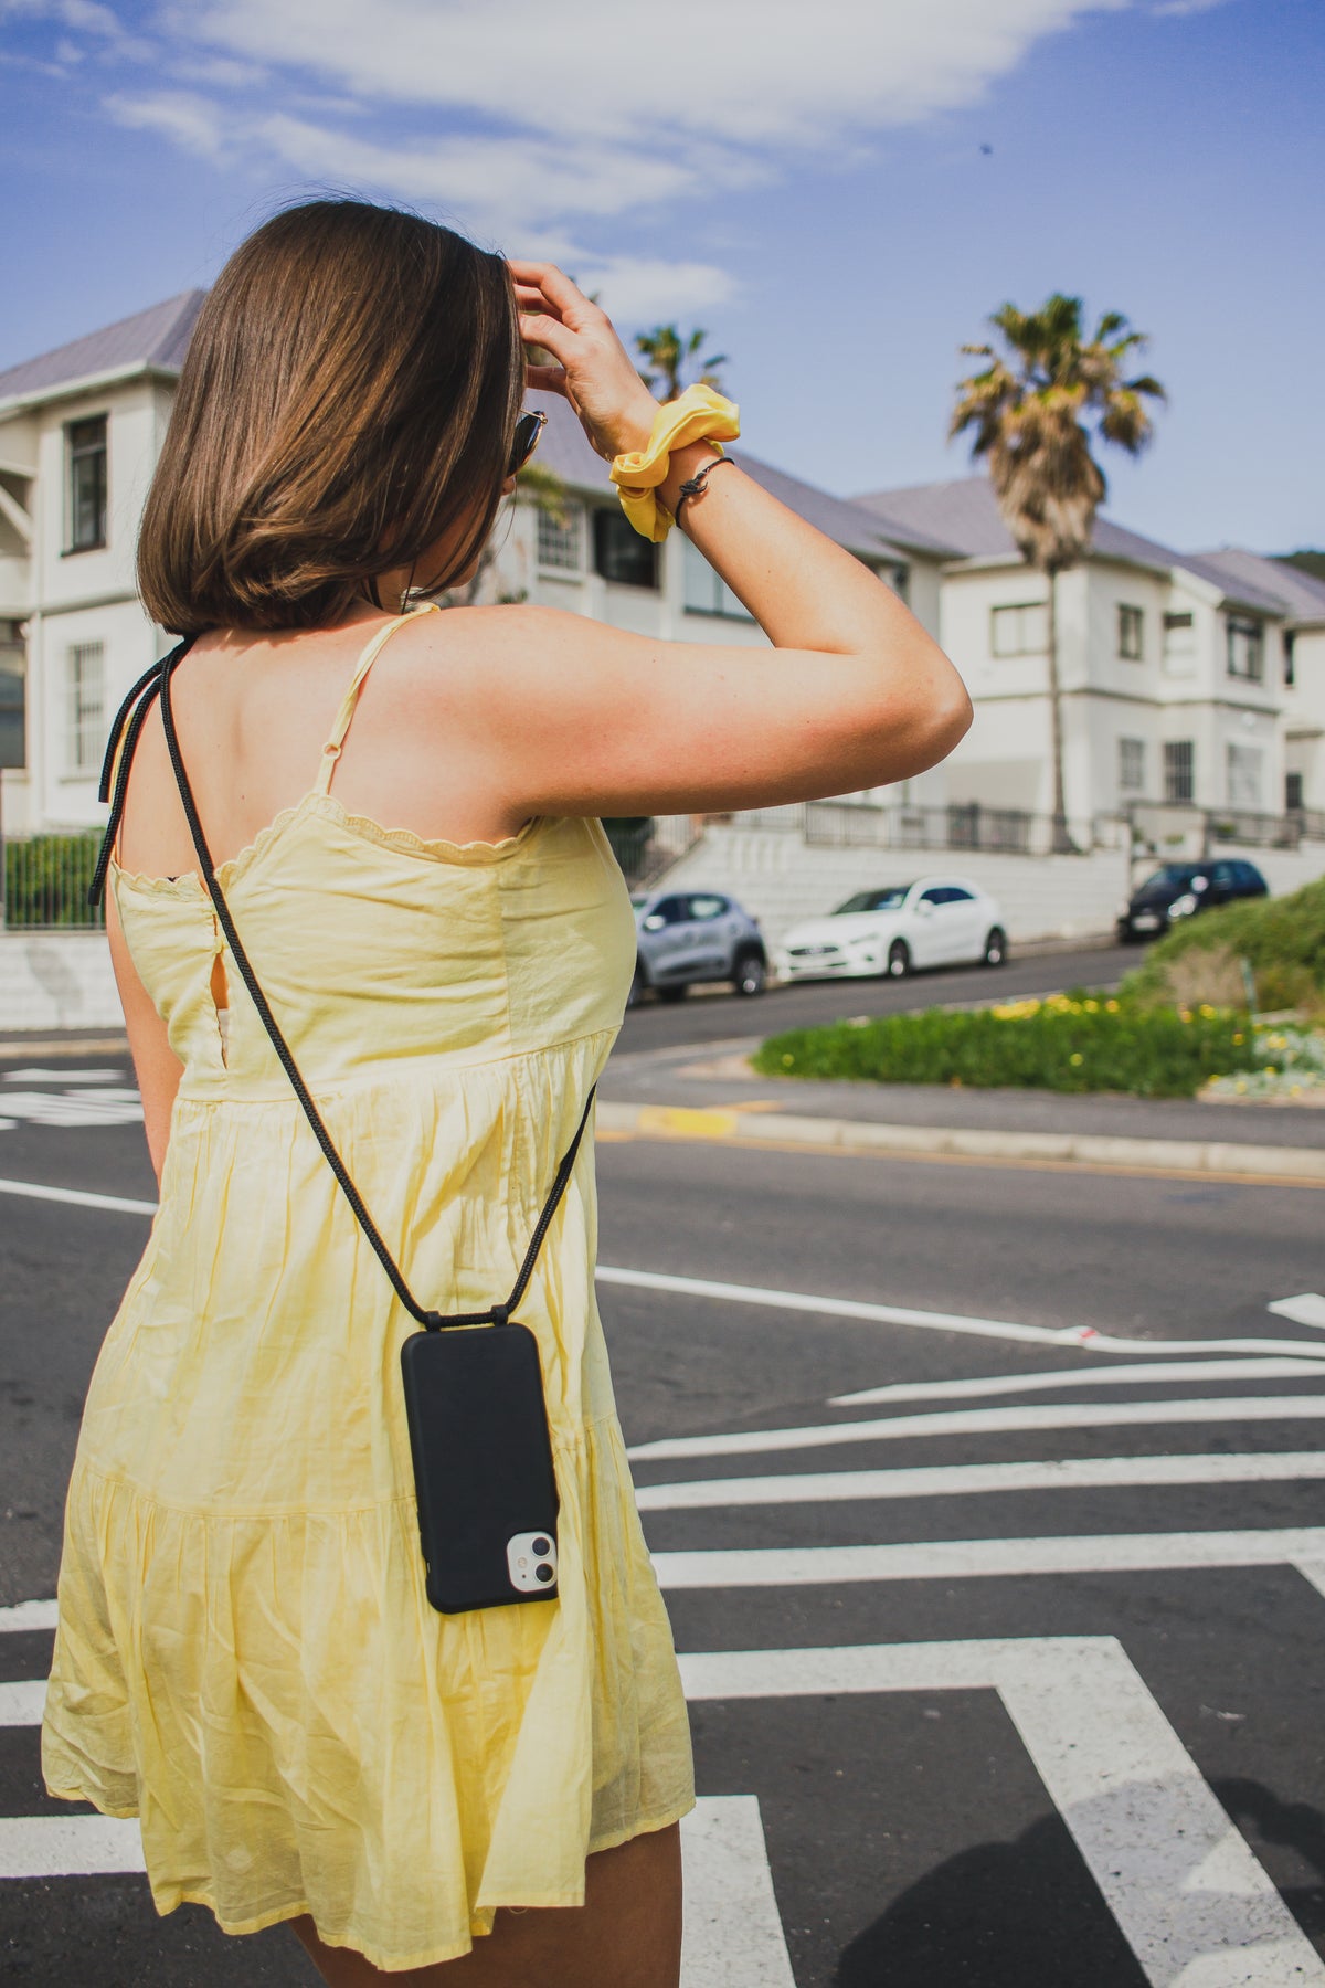
[[[455,845],[346,813],[332,771],[395,626],[316,787],[219,877],[415,1294],[475,1310],[511,1288],[608,1058],[634,916],[596,821]],[[310,1912],[379,1968],[449,1960],[497,1906],[580,1905],[588,1853],[693,1803],[594,1302],[592,1139],[518,1308],[558,1600],[441,1616],[399,1376],[413,1322],[201,881],[111,867],[111,889],[185,1076],[70,1483],[46,1783],[139,1817],[161,1912],[197,1901],[226,1932]]]

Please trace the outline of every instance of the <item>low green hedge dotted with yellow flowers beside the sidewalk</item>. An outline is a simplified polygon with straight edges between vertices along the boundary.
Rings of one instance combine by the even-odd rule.
[[[1214,1076],[1263,1062],[1246,1016],[1140,1008],[1106,994],[1057,994],[999,1008],[886,1014],[771,1036],[753,1056],[767,1077],[864,1077],[987,1089],[1130,1091],[1192,1097]]]

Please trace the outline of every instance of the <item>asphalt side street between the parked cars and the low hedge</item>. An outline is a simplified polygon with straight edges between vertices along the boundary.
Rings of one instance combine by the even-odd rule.
[[[999,968],[940,966],[906,980],[803,980],[771,986],[755,1000],[729,988],[691,988],[679,1002],[656,994],[632,1008],[620,1048],[663,1050],[685,1042],[725,1042],[729,1036],[771,1036],[781,1028],[836,1022],[844,1014],[898,1014],[948,1002],[1011,1000],[1073,986],[1114,986],[1144,958],[1144,946],[1089,946],[1081,952],[1013,956]]]

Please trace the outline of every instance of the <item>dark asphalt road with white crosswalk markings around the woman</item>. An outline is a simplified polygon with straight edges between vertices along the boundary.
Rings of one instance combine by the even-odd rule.
[[[151,1199],[123,1066],[91,1068],[0,1068],[0,1175]],[[687,1988],[1325,1984],[1325,1197],[630,1139],[598,1167],[687,1873],[727,1926]],[[143,1237],[0,1193],[0,1608],[54,1592]],[[22,1620],[0,1980],[312,1982],[278,1928],[157,1920],[141,1877],[42,1849],[68,1811],[4,1716],[50,1656]]]

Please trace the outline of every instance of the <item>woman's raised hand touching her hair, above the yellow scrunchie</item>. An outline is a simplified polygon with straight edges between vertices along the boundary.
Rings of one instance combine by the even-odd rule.
[[[526,368],[534,392],[562,394],[580,415],[594,449],[612,461],[642,449],[658,402],[640,378],[606,310],[590,302],[554,262],[511,262],[520,310],[520,338],[542,346],[554,364]]]

